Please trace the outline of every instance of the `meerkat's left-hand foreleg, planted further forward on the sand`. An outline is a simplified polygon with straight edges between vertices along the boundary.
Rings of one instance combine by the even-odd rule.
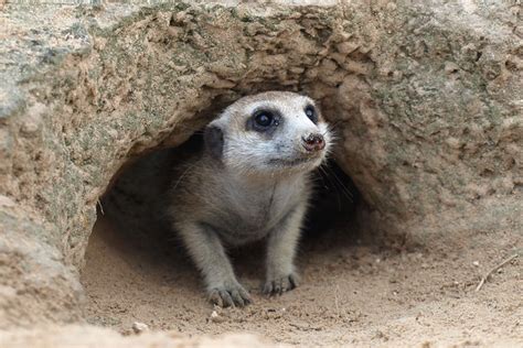
[[[233,265],[213,228],[204,224],[179,226],[183,241],[202,271],[210,301],[220,306],[250,303],[248,292],[234,275]]]

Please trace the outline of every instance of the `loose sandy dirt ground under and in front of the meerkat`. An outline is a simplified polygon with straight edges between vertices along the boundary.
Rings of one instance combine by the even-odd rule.
[[[220,309],[205,301],[181,248],[134,239],[103,218],[82,274],[86,315],[122,334],[140,322],[152,330],[248,331],[300,346],[523,347],[521,257],[476,291],[483,274],[517,252],[520,227],[515,220],[503,230],[466,231],[465,240],[448,244],[403,249],[363,242],[342,227],[308,236],[299,253],[301,286],[274,298],[260,294],[263,253],[254,246],[233,253],[254,304]]]

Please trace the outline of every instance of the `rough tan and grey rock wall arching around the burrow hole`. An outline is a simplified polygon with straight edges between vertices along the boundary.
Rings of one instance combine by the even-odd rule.
[[[97,280],[79,273],[111,178],[266,89],[321,104],[376,246],[434,260],[470,250],[467,262],[520,252],[517,2],[75,3],[0,2],[1,328],[92,318]],[[515,305],[499,327],[521,328],[517,270],[497,295]]]

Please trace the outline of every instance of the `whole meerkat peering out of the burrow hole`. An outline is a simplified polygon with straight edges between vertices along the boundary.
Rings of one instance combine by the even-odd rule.
[[[266,238],[264,293],[298,285],[295,255],[312,183],[332,135],[314,101],[288,91],[244,97],[204,130],[204,149],[168,192],[168,214],[220,306],[250,295],[236,279],[228,247]]]

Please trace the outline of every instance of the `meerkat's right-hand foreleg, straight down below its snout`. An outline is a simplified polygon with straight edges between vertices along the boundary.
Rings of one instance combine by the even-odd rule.
[[[270,233],[267,242],[267,278],[264,293],[281,294],[298,286],[295,255],[306,207],[296,207]]]

